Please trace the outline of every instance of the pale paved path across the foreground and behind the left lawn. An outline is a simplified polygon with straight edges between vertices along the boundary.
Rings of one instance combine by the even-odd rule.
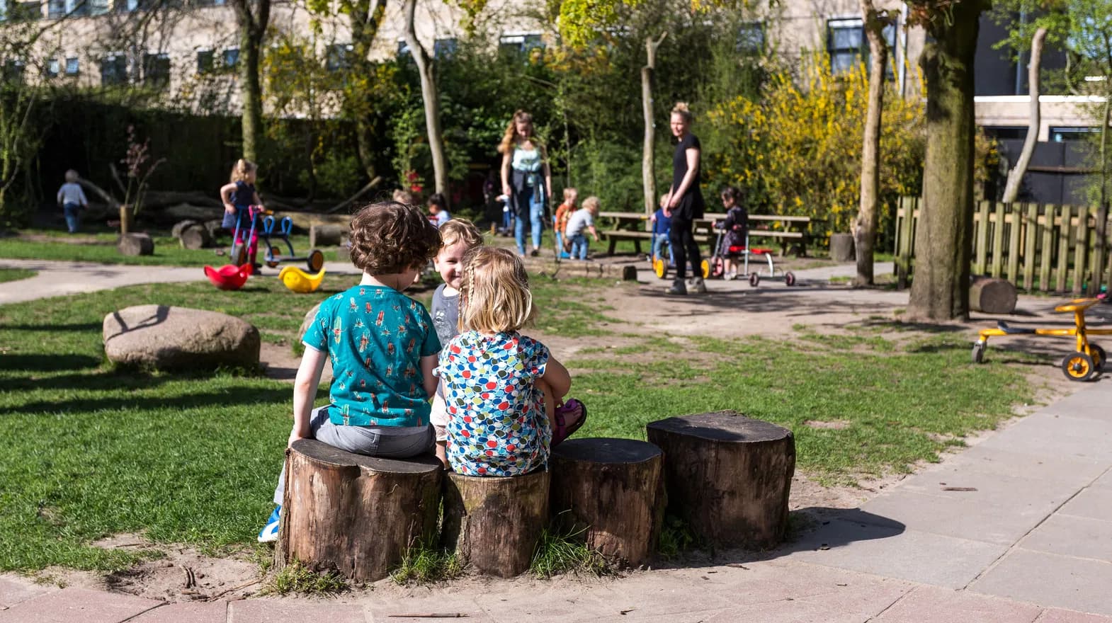
[[[0,267],[29,264],[0,260]],[[56,274],[39,264],[40,278]],[[151,267],[131,268],[88,269],[88,277],[115,288],[132,275],[165,281],[182,270],[147,279]],[[196,269],[185,270],[182,280],[196,279]],[[27,283],[14,290],[26,294]],[[39,295],[61,293],[54,288]],[[9,300],[0,297],[0,303]],[[830,518],[756,560],[616,580],[384,590],[331,601],[166,603],[9,574],[0,576],[0,623],[435,620],[396,616],[405,613],[459,613],[474,623],[1112,623],[1112,378],[1086,383],[861,509]]]

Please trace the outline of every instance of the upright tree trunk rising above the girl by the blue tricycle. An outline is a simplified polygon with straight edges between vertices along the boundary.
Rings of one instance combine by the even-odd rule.
[[[262,87],[259,80],[259,52],[267,24],[270,22],[271,0],[231,0],[239,27],[239,92],[242,99],[244,159],[258,161],[262,138]]]

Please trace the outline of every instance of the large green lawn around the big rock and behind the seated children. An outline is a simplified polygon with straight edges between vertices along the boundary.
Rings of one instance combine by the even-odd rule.
[[[353,279],[329,277],[325,289]],[[644,439],[644,424],[656,419],[737,409],[791,428],[802,472],[844,483],[934,459],[1031,398],[1019,366],[970,364],[960,334],[875,321],[848,334],[804,331],[791,342],[644,335],[605,316],[603,288],[615,287],[534,279],[546,311],[540,329],[583,336],[586,346],[565,362],[573,393],[590,409],[580,435]],[[296,295],[261,279],[240,292],[203,282],[137,285],[0,307],[8,431],[0,438],[0,570],[113,570],[153,555],[90,545],[122,532],[209,552],[252,543],[271,508],[291,386],[231,373],[117,370],[103,359],[101,322],[127,305],[188,305],[242,316],[264,340],[289,343],[324,294]],[[322,389],[318,402],[326,395]]]

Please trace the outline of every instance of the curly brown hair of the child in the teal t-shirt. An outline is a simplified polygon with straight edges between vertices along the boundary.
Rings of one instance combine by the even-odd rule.
[[[351,219],[351,263],[368,274],[420,268],[440,250],[440,232],[417,208],[371,203]]]

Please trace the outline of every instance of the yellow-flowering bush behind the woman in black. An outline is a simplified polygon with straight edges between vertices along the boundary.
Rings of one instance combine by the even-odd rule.
[[[755,214],[807,215],[824,220],[813,233],[848,233],[857,214],[867,100],[864,64],[832,74],[828,61],[818,57],[797,80],[773,73],[761,101],[737,98],[708,112],[719,148],[705,150],[711,188],[737,185]],[[887,229],[896,197],[920,194],[923,121],[919,96],[902,99],[888,89],[881,129],[880,232]]]

